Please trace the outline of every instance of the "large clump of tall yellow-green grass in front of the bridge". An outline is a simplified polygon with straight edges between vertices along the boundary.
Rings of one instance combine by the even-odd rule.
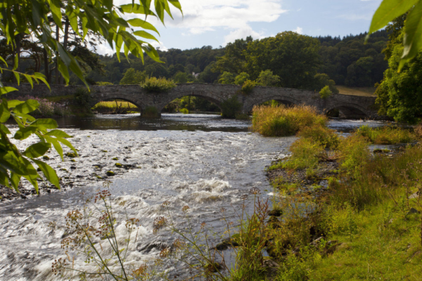
[[[255,106],[252,110],[252,130],[263,136],[293,136],[311,126],[326,126],[327,117],[314,107],[299,105],[286,107]]]

